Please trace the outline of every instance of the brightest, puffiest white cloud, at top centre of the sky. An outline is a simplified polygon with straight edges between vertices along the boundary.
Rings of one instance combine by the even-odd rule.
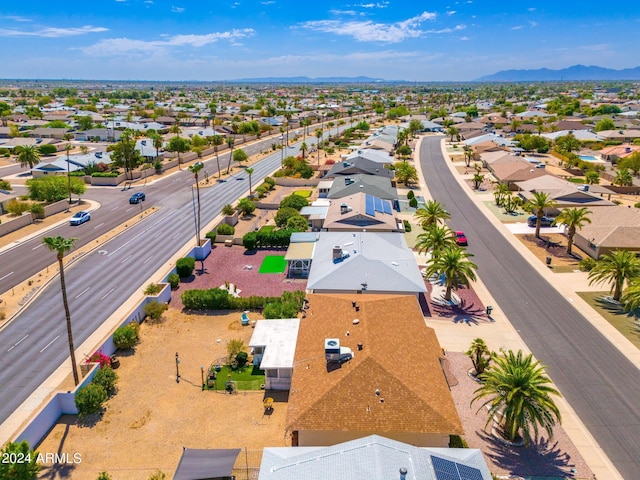
[[[402,22],[384,24],[365,22],[340,22],[338,20],[317,20],[304,22],[302,28],[318,32],[351,36],[360,42],[398,43],[407,38],[417,38],[425,34],[420,25],[436,18],[435,13],[423,12]]]

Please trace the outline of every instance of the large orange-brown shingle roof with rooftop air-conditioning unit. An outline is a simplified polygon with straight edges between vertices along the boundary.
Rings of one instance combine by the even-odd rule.
[[[440,366],[442,349],[424,324],[416,297],[309,294],[308,299],[298,332],[289,431],[463,433]],[[354,358],[328,371],[325,338],[339,338]]]

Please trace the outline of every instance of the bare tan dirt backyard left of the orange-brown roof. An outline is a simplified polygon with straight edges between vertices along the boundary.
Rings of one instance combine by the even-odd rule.
[[[48,465],[39,478],[94,480],[107,470],[115,480],[135,480],[157,469],[171,478],[183,446],[247,447],[259,462],[252,451],[288,444],[286,403],[278,396],[268,394],[276,403],[265,415],[265,392],[202,391],[200,366],[206,370],[226,356],[231,339],[249,342],[253,329],[240,325],[240,314],[185,315],[170,309],[165,317],[161,324],[143,324],[135,353],[120,356],[118,393],[107,401],[104,417],[81,424],[64,416],[37,447],[42,453],[80,453],[82,462]],[[260,317],[252,313],[251,318]]]

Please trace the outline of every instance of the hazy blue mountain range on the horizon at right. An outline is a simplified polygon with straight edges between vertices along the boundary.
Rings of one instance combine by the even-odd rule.
[[[561,70],[503,70],[476,78],[475,82],[549,82],[580,80],[640,80],[640,67],[613,70],[596,66],[573,65]]]

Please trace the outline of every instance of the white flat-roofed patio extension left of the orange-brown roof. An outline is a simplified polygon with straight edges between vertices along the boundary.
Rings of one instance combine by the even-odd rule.
[[[299,318],[258,320],[249,340],[253,365],[265,372],[267,390],[289,390]]]

